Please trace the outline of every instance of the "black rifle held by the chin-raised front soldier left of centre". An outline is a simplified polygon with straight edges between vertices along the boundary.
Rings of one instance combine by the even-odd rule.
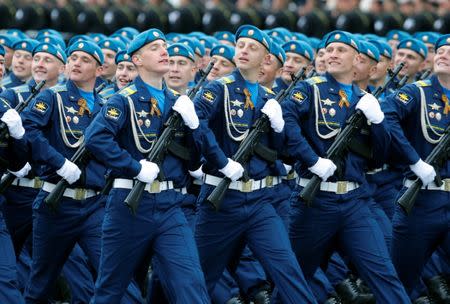
[[[205,71],[201,72],[202,77],[197,82],[197,84],[191,90],[189,90],[189,98],[192,99],[195,97],[213,67],[214,62],[210,62]],[[169,150],[169,146],[174,142],[173,139],[175,137],[175,132],[183,126],[183,119],[181,118],[181,115],[178,112],[174,111],[169,119],[167,119],[165,126],[166,127],[164,128],[164,131],[162,132],[161,136],[154,142],[153,147],[147,156],[147,161],[154,162],[158,166],[161,166],[167,154],[167,151]],[[161,175],[159,176],[159,178],[161,179]],[[136,214],[136,210],[141,202],[145,186],[146,183],[137,180],[130,193],[128,193],[127,197],[125,198],[125,204],[128,208],[130,208],[133,214]]]

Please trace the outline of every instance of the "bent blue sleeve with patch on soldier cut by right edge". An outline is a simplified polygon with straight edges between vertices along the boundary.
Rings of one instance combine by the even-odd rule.
[[[419,161],[420,156],[406,138],[402,122],[410,115],[416,115],[420,109],[420,100],[414,94],[413,85],[407,85],[397,93],[391,94],[382,103],[386,122],[389,124],[394,153],[402,155],[408,165]],[[420,123],[419,121],[417,123]]]

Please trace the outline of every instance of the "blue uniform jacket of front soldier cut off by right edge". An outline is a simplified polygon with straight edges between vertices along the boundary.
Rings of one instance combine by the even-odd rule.
[[[442,87],[437,76],[431,79],[417,81],[401,88],[396,94],[386,99],[386,118],[392,124],[392,149],[393,153],[399,155],[399,161],[405,165],[416,163],[420,158],[425,158],[436,146],[429,143],[423,134],[421,125],[421,98],[419,88],[425,93],[426,114],[425,125],[430,137],[438,139],[434,130],[442,134],[450,123],[450,112],[444,113],[445,103],[443,101]],[[442,178],[450,177],[450,161],[446,161],[440,170]],[[414,176],[411,172],[410,177]]]

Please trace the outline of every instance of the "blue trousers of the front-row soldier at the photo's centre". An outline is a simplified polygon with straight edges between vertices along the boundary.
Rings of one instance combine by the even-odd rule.
[[[206,197],[212,187],[202,187]],[[251,193],[228,190],[215,211],[200,205],[196,241],[208,291],[212,293],[227,266],[239,263],[242,248],[248,245],[275,285],[282,286],[284,303],[315,303],[291,250],[286,228],[271,205],[276,192],[264,188]]]

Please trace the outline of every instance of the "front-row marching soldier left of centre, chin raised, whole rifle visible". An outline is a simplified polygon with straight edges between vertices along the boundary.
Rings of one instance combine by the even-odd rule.
[[[189,139],[186,133],[198,127],[198,118],[189,98],[178,98],[178,93],[163,88],[169,57],[161,31],[150,29],[136,36],[128,54],[139,76],[109,99],[86,135],[87,148],[117,172],[107,200],[101,267],[92,302],[118,303],[139,263],[154,254],[171,303],[206,304],[210,300],[193,234],[180,208],[183,194],[174,190],[187,182],[187,163],[169,154],[159,168],[145,159],[172,107],[188,126],[179,133],[183,143]],[[160,170],[164,179],[155,180]],[[133,215],[123,201],[135,179],[146,187]]]

